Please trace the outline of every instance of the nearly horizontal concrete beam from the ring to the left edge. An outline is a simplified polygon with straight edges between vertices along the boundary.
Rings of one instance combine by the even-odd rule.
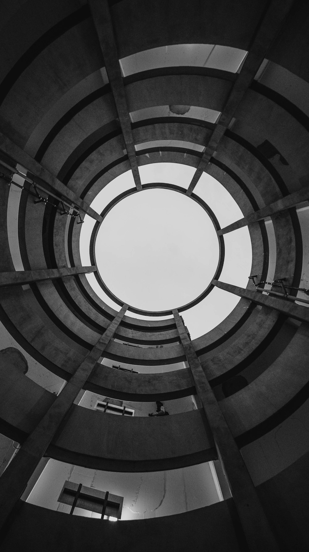
[[[0,288],[7,285],[31,284],[42,280],[55,280],[76,274],[95,272],[97,267],[46,268],[44,270],[19,270],[17,272],[0,272]]]

